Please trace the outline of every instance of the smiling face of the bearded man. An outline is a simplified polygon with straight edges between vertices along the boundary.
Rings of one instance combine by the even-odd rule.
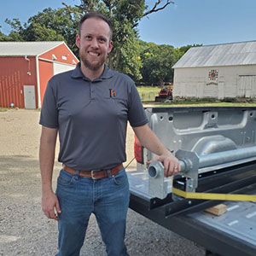
[[[76,37],[76,44],[84,67],[92,71],[99,70],[113,47],[108,23],[97,18],[84,20],[80,35]]]

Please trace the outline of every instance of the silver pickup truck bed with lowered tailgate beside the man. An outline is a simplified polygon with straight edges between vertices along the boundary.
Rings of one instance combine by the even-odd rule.
[[[174,154],[182,149],[209,159],[220,153],[229,155],[232,150],[250,152],[248,149],[253,151],[256,146],[256,108],[148,108],[146,113],[148,125]],[[131,209],[205,247],[207,255],[256,255],[255,202],[224,201],[228,211],[213,216],[204,210],[223,201],[173,195],[172,186],[189,189],[189,175],[175,176],[166,197],[160,199],[148,189],[150,177],[144,163],[153,157],[144,148],[143,162],[137,164],[136,171],[128,172]],[[256,155],[231,157],[216,164],[212,159],[211,166],[199,166],[193,191],[256,195]]]

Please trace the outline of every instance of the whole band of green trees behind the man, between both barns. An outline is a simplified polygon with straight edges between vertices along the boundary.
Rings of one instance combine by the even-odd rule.
[[[75,35],[79,20],[91,10],[98,11],[113,25],[113,51],[108,66],[129,74],[135,81],[159,85],[172,82],[172,66],[191,45],[174,49],[171,45],[143,42],[138,40],[137,25],[144,16],[165,9],[170,3],[155,0],[151,9],[144,0],[80,0],[74,7],[63,3],[65,8],[44,9],[24,24],[19,19],[6,20],[12,30],[8,36],[0,31],[0,41],[65,41],[78,56]]]

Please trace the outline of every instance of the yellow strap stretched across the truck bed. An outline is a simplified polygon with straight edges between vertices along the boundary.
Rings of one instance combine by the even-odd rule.
[[[256,195],[185,192],[183,190],[175,189],[175,188],[172,188],[172,193],[188,199],[224,200],[224,201],[256,201]]]

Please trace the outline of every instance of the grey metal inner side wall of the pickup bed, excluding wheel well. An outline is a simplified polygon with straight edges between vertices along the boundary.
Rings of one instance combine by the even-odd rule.
[[[150,128],[174,153],[192,151],[203,137],[217,135],[229,138],[236,148],[256,146],[256,108],[148,108],[146,113]]]

